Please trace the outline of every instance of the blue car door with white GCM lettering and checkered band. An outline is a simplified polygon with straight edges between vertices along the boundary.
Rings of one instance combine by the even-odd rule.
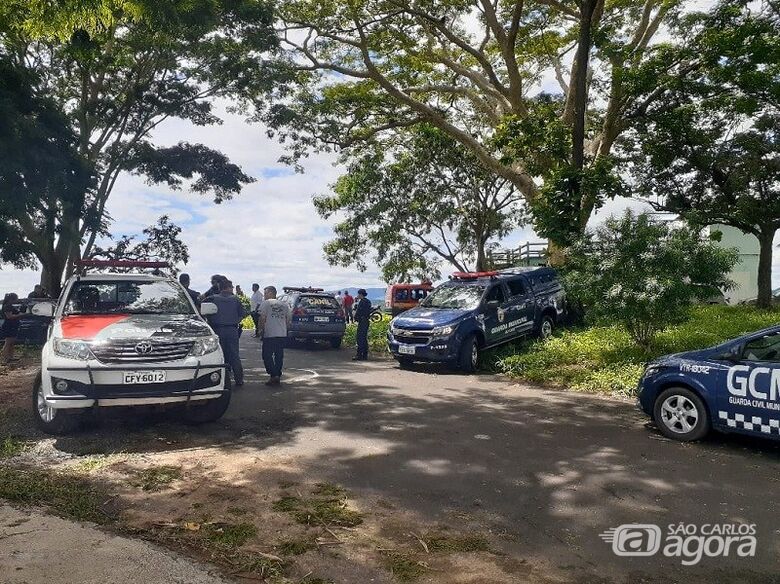
[[[780,434],[780,331],[748,339],[721,375],[713,422],[727,430]]]

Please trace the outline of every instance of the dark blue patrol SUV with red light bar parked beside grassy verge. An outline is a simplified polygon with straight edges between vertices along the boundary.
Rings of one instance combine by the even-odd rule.
[[[548,267],[457,272],[390,322],[387,342],[401,367],[443,362],[471,373],[482,350],[538,334],[564,314],[563,288]]]

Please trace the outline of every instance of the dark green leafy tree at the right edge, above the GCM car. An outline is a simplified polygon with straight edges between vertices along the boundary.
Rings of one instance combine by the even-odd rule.
[[[780,13],[729,1],[681,28],[689,42],[659,48],[653,67],[670,82],[631,136],[637,189],[694,224],[755,235],[757,304],[768,308],[780,229]]]

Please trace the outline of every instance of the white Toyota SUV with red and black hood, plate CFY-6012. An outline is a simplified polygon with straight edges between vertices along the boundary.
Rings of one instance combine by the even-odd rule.
[[[201,314],[213,314],[211,303]],[[219,339],[175,280],[145,274],[87,274],[68,280],[55,307],[32,394],[38,426],[74,429],[102,406],[183,403],[184,420],[217,420],[230,403]]]

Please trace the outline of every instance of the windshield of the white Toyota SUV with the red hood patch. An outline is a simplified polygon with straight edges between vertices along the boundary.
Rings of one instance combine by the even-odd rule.
[[[65,303],[68,314],[193,314],[184,291],[172,282],[82,280]]]

